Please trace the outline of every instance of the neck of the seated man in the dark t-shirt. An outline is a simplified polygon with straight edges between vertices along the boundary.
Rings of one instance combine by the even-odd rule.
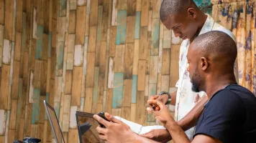
[[[221,79],[219,77],[221,77]],[[237,83],[234,74],[216,76],[206,79],[206,81],[204,91],[206,92],[208,99],[211,99],[216,92],[227,87],[229,84]]]

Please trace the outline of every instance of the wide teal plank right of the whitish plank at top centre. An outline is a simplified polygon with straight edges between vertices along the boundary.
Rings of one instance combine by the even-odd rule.
[[[125,44],[127,35],[127,11],[119,10],[117,12],[117,24],[116,24],[116,44]]]

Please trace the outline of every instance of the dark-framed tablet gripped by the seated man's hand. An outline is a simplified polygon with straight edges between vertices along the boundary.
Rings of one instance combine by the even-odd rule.
[[[96,127],[99,123],[93,119],[93,115],[87,112],[76,112],[76,122],[78,124],[78,136],[81,143],[104,142],[99,138]]]

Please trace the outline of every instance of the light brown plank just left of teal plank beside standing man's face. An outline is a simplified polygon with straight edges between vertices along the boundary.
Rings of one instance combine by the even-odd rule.
[[[140,28],[140,49],[139,49],[139,59],[146,59],[147,57],[147,26]]]

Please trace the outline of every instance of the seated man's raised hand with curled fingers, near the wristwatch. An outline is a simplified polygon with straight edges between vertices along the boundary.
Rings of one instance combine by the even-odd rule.
[[[158,100],[148,100],[148,104],[156,104],[157,107],[160,108],[159,111],[155,111],[151,107],[147,107],[147,112],[151,114],[155,114],[155,119],[158,119],[163,126],[166,128],[166,125],[169,121],[173,120],[173,117],[170,115],[169,109],[163,104],[163,102],[160,102]]]

